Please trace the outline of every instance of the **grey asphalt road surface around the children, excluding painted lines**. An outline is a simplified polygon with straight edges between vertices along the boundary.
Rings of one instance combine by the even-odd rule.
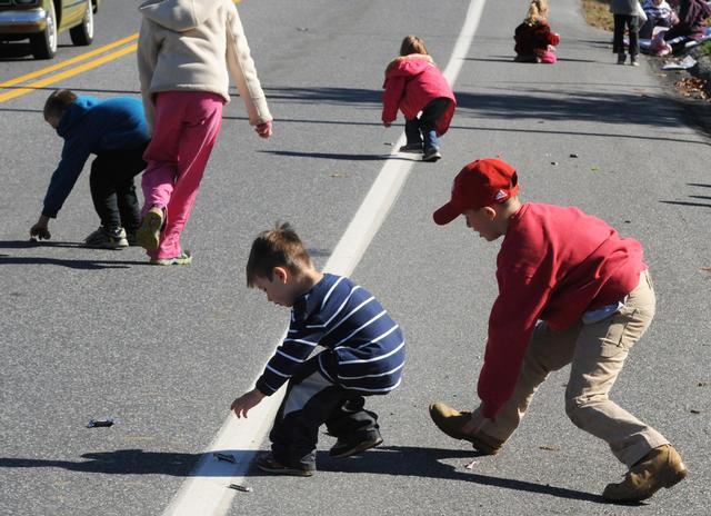
[[[552,2],[554,66],[512,61],[528,2],[473,2],[483,11],[453,85],[459,106],[443,159],[413,165],[352,274],[408,339],[403,385],[370,405],[384,443],[337,460],[323,436],[314,477],[250,470],[253,490],[236,493],[227,514],[709,513],[710,141],[684,125],[652,67],[614,64],[610,34],[584,24],[578,0]],[[137,6],[102,2],[94,47],[134,33]],[[384,163],[411,159],[391,156],[402,119],[380,123],[383,70],[408,33],[444,67],[470,2],[437,6],[239,4],[274,136],[259,139],[233,98],[184,231],[189,267],[148,266],[136,248],[80,247],[99,225],[87,171],[52,221],[52,239],[27,241],[61,150],[42,120],[44,98],[57,87],[138,96],[131,54],[0,102],[1,515],[152,515],[169,506],[289,320],[246,287],[252,238],[288,220],[323,266]],[[62,46],[57,59],[86,50]],[[13,48],[0,57],[0,82],[46,66]],[[434,400],[475,406],[498,250],[463,220],[435,227],[431,212],[464,163],[497,156],[519,170],[523,200],[578,206],[644,246],[657,317],[612,396],[664,434],[690,469],[647,503],[601,498],[624,467],[568,420],[567,369],[541,387],[495,457],[475,456],[429,419]],[[116,424],[86,427],[98,417]]]

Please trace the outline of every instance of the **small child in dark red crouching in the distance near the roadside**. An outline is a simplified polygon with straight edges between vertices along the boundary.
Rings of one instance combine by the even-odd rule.
[[[560,37],[551,31],[547,18],[548,0],[533,0],[525,20],[513,32],[514,61],[552,64],[558,60],[555,46],[560,43]]]

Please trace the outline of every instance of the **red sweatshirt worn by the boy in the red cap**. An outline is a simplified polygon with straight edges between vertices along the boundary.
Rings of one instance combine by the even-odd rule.
[[[578,208],[523,205],[497,257],[499,297],[478,385],[484,416],[511,397],[538,319],[568,328],[584,311],[622,300],[645,269],[641,245],[604,221]]]

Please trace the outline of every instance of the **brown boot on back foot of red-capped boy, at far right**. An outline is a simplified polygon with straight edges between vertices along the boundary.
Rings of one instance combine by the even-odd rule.
[[[688,474],[677,450],[670,445],[662,445],[632,466],[620,484],[608,484],[602,496],[615,502],[640,502],[662,487],[680,483]]]

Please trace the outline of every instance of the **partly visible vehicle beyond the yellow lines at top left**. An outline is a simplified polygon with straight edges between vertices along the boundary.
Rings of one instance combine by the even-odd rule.
[[[0,41],[30,40],[36,59],[57,53],[60,32],[77,46],[93,41],[93,14],[100,0],[0,0]]]

